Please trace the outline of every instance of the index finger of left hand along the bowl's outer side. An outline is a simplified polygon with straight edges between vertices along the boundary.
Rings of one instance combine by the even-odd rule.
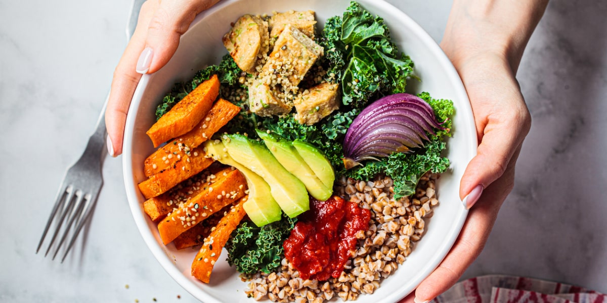
[[[135,65],[145,45],[149,21],[157,8],[157,1],[146,1],[141,6],[135,32],[114,70],[105,116],[107,149],[110,156],[118,156],[122,153],[126,115],[135,88],[141,78],[141,74],[135,71]]]

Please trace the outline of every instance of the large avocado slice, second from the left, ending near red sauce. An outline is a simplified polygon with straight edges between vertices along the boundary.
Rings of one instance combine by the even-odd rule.
[[[223,144],[236,162],[249,168],[270,185],[274,200],[290,218],[310,209],[305,185],[291,175],[263,144],[243,135],[224,135]]]

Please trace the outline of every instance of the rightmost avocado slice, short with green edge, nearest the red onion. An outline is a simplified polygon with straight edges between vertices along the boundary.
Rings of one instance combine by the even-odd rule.
[[[333,190],[333,182],[335,182],[335,171],[333,165],[325,157],[325,155],[314,145],[301,141],[299,139],[293,141],[293,147],[297,153],[308,164],[314,175],[316,175],[322,183]]]

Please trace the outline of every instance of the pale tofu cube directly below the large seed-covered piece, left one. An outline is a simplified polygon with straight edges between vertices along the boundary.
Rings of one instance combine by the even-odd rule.
[[[276,87],[263,82],[262,79],[254,79],[249,86],[249,109],[259,116],[280,116],[291,112],[292,102],[285,102],[278,98],[280,92]]]

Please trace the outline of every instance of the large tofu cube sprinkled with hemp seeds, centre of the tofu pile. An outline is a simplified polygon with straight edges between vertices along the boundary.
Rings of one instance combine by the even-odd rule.
[[[260,75],[282,85],[283,92],[296,92],[299,82],[322,54],[322,46],[287,24],[278,36]]]

